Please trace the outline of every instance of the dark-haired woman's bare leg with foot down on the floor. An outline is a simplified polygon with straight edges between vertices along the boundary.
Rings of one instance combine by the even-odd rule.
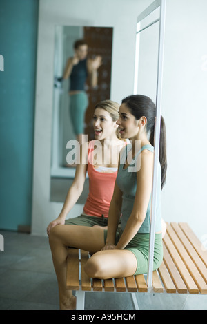
[[[68,246],[95,253],[104,245],[103,229],[77,225],[57,225],[49,235],[52,260],[59,287],[60,309],[75,309],[75,297],[66,289],[66,258]]]

